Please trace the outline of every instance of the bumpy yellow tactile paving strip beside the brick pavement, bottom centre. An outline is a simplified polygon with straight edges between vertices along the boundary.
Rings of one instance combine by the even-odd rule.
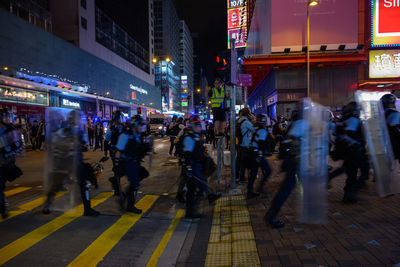
[[[261,266],[243,195],[217,200],[205,266]]]

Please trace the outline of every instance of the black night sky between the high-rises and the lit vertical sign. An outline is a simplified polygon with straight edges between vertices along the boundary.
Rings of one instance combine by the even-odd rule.
[[[179,19],[191,32],[199,33],[195,43],[208,82],[214,79],[215,54],[227,49],[226,0],[176,0]]]

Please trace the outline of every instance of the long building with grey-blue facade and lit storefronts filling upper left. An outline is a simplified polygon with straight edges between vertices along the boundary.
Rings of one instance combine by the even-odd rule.
[[[12,92],[0,93],[0,106],[27,116],[44,116],[48,106],[102,118],[159,112],[153,7],[153,0],[0,0],[0,92]]]

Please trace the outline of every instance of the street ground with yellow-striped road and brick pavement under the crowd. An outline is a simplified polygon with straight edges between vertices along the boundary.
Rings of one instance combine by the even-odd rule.
[[[41,213],[44,152],[18,160],[24,175],[7,185],[11,216],[0,222],[0,265],[4,266],[394,266],[400,263],[399,196],[376,197],[374,183],[356,205],[340,202],[344,177],[332,183],[329,220],[324,225],[298,223],[296,193],[281,215],[286,227],[273,230],[262,218],[279,182],[279,161],[268,182],[271,193],[247,201],[230,195],[215,207],[204,202],[204,216],[184,218],[177,204],[179,168],[168,157],[169,139],[157,139],[151,175],[143,181],[138,206],[143,215],[121,214],[113,199],[105,164],[92,205],[101,216],[77,210]],[[96,162],[101,152],[87,152]],[[145,163],[146,166],[147,163]],[[239,186],[244,190],[243,186]],[[58,201],[66,196],[61,196]]]

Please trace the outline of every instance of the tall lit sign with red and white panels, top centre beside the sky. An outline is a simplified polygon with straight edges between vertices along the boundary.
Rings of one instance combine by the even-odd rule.
[[[235,39],[235,47],[246,47],[247,40],[247,0],[228,0],[228,49],[231,39]]]

